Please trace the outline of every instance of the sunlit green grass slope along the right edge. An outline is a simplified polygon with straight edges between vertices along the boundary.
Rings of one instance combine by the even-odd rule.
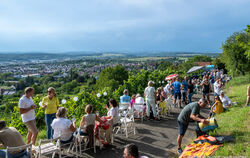
[[[231,135],[235,141],[223,144],[215,156],[250,155],[250,107],[245,106],[247,86],[250,86],[249,74],[236,77],[226,85],[226,95],[237,105],[216,116],[219,128],[211,134]]]

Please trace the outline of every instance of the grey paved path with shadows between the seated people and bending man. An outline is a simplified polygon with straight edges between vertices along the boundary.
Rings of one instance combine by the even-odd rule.
[[[198,100],[200,95],[194,95],[194,100]],[[211,98],[212,99],[212,98]],[[106,149],[99,150],[93,154],[93,150],[86,152],[84,157],[89,158],[122,158],[124,146],[134,143],[139,147],[140,155],[146,155],[150,158],[167,158],[177,157],[178,135],[177,117],[181,109],[174,108],[171,113],[173,116],[163,118],[160,121],[144,121],[136,120],[136,135],[130,134],[129,138],[123,135],[115,136],[114,145]],[[201,114],[208,116],[209,109],[203,109]],[[183,138],[183,144],[192,142],[195,138],[195,124],[190,123],[188,130]]]

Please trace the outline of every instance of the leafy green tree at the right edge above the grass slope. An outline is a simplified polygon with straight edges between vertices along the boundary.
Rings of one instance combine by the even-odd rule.
[[[229,73],[233,76],[245,75],[250,69],[250,59],[247,57],[249,41],[249,33],[235,32],[222,44],[221,61],[225,63]]]

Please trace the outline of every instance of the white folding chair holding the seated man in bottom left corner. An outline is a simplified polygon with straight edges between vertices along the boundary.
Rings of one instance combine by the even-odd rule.
[[[27,151],[28,153],[25,154],[25,151]],[[18,146],[18,147],[8,147],[7,146],[5,158],[8,158],[8,153],[13,153],[13,152],[19,152],[18,157],[20,157],[20,158],[22,158],[22,156],[24,156],[24,155],[27,155],[30,158],[32,158],[32,144],[27,144],[27,145]]]

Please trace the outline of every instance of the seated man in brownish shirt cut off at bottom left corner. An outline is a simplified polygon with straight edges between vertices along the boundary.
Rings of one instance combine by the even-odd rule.
[[[0,120],[0,146],[1,147],[18,147],[25,145],[21,134],[14,127],[6,127],[5,121]],[[0,150],[0,158],[5,158],[6,150]],[[17,152],[8,152],[9,158],[28,158],[26,150]]]

